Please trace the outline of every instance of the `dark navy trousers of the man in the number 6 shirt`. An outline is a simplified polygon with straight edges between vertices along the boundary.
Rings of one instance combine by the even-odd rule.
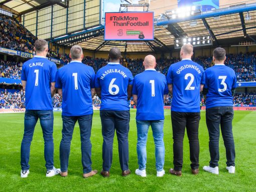
[[[100,111],[102,125],[102,159],[103,170],[109,171],[112,164],[114,131],[118,141],[119,162],[122,170],[129,169],[129,122],[130,111]]]

